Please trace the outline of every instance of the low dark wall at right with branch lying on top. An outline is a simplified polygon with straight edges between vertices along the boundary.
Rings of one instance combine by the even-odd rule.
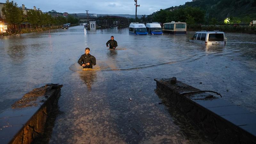
[[[157,89],[215,143],[256,143],[256,114],[212,93],[171,79],[155,79]],[[196,92],[197,91],[197,92]]]

